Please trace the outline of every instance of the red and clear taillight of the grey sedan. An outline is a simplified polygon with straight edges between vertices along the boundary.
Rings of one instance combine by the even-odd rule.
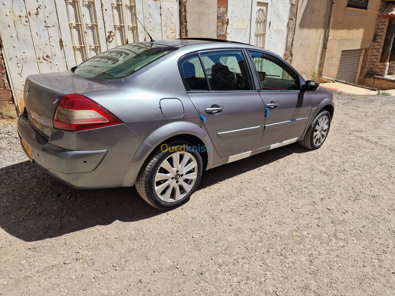
[[[66,131],[85,131],[121,123],[102,106],[79,94],[62,97],[53,116],[53,127]]]

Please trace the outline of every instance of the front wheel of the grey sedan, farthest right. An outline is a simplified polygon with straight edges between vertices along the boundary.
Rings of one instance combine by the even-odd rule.
[[[331,114],[324,110],[311,122],[307,133],[299,144],[307,149],[315,150],[324,144],[331,127]]]

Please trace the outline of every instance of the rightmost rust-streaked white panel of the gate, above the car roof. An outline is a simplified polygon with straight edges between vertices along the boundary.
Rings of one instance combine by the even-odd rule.
[[[178,0],[160,0],[162,39],[179,38],[179,9]]]

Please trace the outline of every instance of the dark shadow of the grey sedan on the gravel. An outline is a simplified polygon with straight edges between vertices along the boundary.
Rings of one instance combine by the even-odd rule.
[[[198,190],[293,153],[309,150],[292,144],[208,170]],[[144,220],[164,214],[147,204],[134,187],[76,190],[53,180],[24,161],[0,169],[3,230],[26,242],[54,238],[113,221]]]

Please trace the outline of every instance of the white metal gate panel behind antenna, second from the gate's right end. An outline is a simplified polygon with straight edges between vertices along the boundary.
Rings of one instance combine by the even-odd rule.
[[[162,25],[160,16],[160,0],[143,1],[144,26],[155,40],[162,39]],[[146,36],[145,40],[149,41]]]

